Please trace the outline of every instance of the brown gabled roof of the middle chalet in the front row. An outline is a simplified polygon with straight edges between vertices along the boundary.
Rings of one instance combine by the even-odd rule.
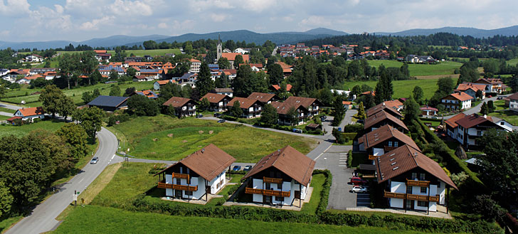
[[[307,186],[307,184],[310,183],[310,178],[313,173],[314,161],[305,154],[297,151],[297,149],[286,146],[260,159],[258,163],[248,171],[244,179],[270,167],[282,171],[295,181]]]

